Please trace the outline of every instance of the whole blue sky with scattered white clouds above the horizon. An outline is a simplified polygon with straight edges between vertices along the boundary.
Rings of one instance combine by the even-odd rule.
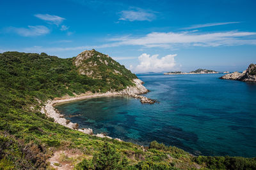
[[[136,73],[243,71],[256,63],[256,1],[0,1],[0,52],[106,53]]]

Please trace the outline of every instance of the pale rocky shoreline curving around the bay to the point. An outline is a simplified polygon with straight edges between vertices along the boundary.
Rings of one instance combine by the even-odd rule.
[[[153,103],[157,102],[154,99],[149,99],[145,96],[140,95],[140,94],[145,94],[148,92],[148,90],[143,86],[143,81],[141,81],[140,79],[134,79],[133,81],[135,84],[134,86],[127,87],[126,89],[121,90],[120,92],[106,92],[106,93],[96,93],[96,94],[92,94],[90,92],[90,93],[81,94],[81,95],[75,96],[75,97],[65,96],[65,97],[61,97],[61,98],[56,98],[54,100],[48,100],[44,104],[44,106],[41,107],[41,113],[44,113],[45,115],[47,115],[47,117],[54,118],[54,122],[56,122],[57,124],[63,125],[65,127],[68,127],[70,129],[84,132],[85,134],[97,136],[99,138],[112,139],[111,137],[106,136],[105,134],[93,134],[93,130],[90,128],[79,129],[78,128],[79,125],[77,123],[74,124],[74,123],[70,122],[70,120],[67,120],[66,118],[64,118],[64,115],[61,115],[60,112],[58,110],[56,110],[56,108],[54,108],[54,106],[56,104],[69,103],[72,101],[79,101],[79,100],[83,100],[83,99],[89,99],[92,97],[107,97],[107,96],[121,96],[121,95],[135,97],[137,99],[140,99],[141,103],[153,104]],[[122,141],[121,139],[118,139],[118,138],[116,138],[116,140]]]

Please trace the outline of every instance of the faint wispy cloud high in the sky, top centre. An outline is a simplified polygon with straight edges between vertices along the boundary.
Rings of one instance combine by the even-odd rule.
[[[119,20],[147,20],[152,21],[154,18],[156,18],[156,15],[152,12],[143,11],[143,10],[129,10],[129,11],[121,11],[121,17]]]

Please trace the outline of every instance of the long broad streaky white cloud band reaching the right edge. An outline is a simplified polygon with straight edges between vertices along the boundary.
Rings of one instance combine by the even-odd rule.
[[[109,39],[115,41],[112,45],[140,45],[148,48],[177,48],[180,46],[234,46],[256,45],[253,37],[256,32],[152,32],[141,37],[122,37]]]

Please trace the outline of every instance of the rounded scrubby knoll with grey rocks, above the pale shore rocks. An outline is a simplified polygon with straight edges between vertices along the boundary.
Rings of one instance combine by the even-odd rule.
[[[124,65],[119,64],[108,55],[95,50],[85,50],[79,53],[74,58],[73,64],[76,66],[79,74],[104,81],[108,85],[116,85],[111,87],[115,90],[122,90],[128,85],[132,85],[132,80],[137,78],[135,74],[125,69]]]

